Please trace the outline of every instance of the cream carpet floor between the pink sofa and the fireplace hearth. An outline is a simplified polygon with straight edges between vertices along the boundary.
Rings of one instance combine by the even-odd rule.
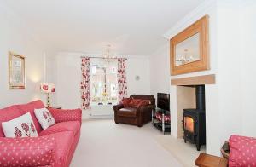
[[[71,167],[183,166],[157,142],[160,135],[150,123],[138,128],[113,119],[85,121]]]

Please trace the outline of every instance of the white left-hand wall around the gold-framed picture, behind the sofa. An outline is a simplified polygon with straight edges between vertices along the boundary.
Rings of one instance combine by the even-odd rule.
[[[40,98],[39,83],[44,78],[43,49],[38,47],[37,41],[33,40],[19,16],[1,3],[0,22],[0,107]],[[26,89],[9,89],[9,51],[26,56]]]

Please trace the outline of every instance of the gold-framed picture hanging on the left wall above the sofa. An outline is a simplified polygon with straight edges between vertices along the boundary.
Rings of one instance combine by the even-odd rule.
[[[25,56],[9,51],[9,89],[25,89]]]

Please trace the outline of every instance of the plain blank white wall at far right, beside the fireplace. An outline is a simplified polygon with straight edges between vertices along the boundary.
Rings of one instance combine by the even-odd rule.
[[[256,2],[218,1],[218,112],[219,140],[230,135],[256,137],[253,116],[256,80],[253,46]],[[227,24],[228,22],[228,24]]]

